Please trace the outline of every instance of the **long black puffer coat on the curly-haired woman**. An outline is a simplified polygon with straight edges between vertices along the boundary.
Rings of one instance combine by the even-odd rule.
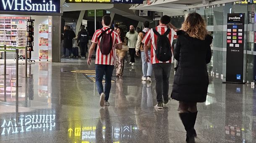
[[[209,77],[206,64],[211,61],[212,36],[205,40],[178,31],[174,57],[179,62],[172,87],[172,99],[183,102],[205,102]]]

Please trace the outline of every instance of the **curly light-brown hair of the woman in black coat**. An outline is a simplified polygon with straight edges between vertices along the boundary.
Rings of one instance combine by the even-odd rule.
[[[185,31],[188,36],[204,40],[208,34],[206,23],[198,13],[190,13],[181,26],[181,30]]]

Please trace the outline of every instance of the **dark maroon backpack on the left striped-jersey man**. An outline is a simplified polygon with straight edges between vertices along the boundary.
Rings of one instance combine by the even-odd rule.
[[[110,54],[110,51],[112,50],[113,47],[113,40],[112,40],[112,32],[113,30],[111,30],[109,33],[107,33],[107,31],[111,30],[111,28],[107,28],[105,31],[101,30],[102,33],[99,35],[99,38],[101,38],[100,40],[100,44],[99,44],[99,49],[100,52],[103,55],[108,55]]]

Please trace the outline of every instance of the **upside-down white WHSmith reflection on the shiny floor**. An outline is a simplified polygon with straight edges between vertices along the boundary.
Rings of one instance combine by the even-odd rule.
[[[21,115],[18,123],[15,118],[13,120],[5,119],[0,124],[3,128],[1,135],[29,132],[35,129],[52,130],[52,127],[55,127],[54,120],[55,115]]]

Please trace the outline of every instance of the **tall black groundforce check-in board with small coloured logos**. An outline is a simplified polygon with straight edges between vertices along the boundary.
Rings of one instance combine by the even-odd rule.
[[[243,83],[244,13],[227,14],[226,82]]]

